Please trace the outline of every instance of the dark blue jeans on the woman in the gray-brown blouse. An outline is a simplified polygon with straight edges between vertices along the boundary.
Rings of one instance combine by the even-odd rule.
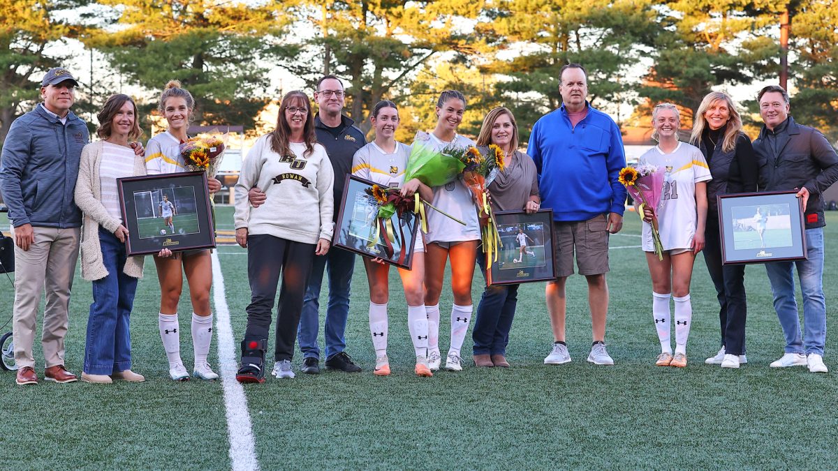
[[[478,249],[477,261],[486,279],[486,256]],[[472,339],[473,355],[506,355],[510,343],[515,304],[518,303],[520,285],[486,286],[477,307]]]

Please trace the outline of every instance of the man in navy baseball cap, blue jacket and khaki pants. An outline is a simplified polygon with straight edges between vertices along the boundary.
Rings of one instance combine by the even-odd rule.
[[[64,337],[81,227],[73,194],[81,149],[90,141],[87,125],[70,111],[78,85],[70,71],[49,70],[41,80],[44,101],[14,120],[0,154],[0,192],[15,240],[12,331],[18,385],[38,384],[32,346],[44,290],[44,379],[76,380],[65,368]],[[133,147],[143,153],[142,146]]]

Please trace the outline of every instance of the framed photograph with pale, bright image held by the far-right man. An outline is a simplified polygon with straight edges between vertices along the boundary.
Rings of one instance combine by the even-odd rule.
[[[805,260],[803,200],[796,194],[791,190],[716,196],[722,262]]]

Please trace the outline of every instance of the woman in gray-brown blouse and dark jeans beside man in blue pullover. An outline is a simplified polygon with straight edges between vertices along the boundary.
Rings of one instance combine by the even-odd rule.
[[[499,107],[486,115],[477,138],[480,153],[488,153],[489,144],[498,146],[506,154],[506,168],[489,184],[492,210],[526,210],[527,213],[539,210],[541,199],[535,163],[518,150],[518,125],[512,111]],[[486,256],[482,251],[478,252],[477,260],[485,277]],[[472,331],[475,365],[510,366],[506,361],[506,344],[510,341],[512,318],[515,317],[518,286],[486,286]]]

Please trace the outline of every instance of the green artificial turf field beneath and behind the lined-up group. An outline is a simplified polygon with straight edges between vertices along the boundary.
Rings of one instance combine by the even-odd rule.
[[[231,208],[219,208],[220,226]],[[827,213],[824,285],[827,324],[838,321],[838,213]],[[4,220],[0,224],[5,225]],[[177,227],[177,226],[176,226]],[[611,245],[638,246],[639,218],[627,213]],[[250,290],[246,251],[218,249],[233,329],[244,332]],[[356,263],[347,352],[360,374],[326,372],[270,378],[246,386],[256,453],[263,469],[553,469],[747,468],[825,469],[838,459],[838,363],[827,336],[827,375],[803,367],[774,370],[783,353],[762,266],[746,271],[747,357],[740,370],[705,365],[719,348],[718,304],[703,257],[692,284],[693,324],[685,369],[654,366],[660,353],[651,321],[651,283],[639,248],[614,249],[608,274],[611,304],[606,341],[616,361],[585,361],[591,345],[587,288],[567,283],[568,365],[543,365],[551,347],[544,285],[522,285],[510,333],[510,369],[413,375],[406,303],[391,272],[390,347],[393,375],[372,375],[375,352],[367,319],[363,264]],[[447,275],[450,277],[450,274]],[[2,277],[2,275],[0,275]],[[475,275],[474,304],[483,277]],[[446,282],[446,286],[449,286]],[[327,290],[321,298],[321,325]],[[10,316],[12,288],[0,278],[0,315]],[[132,316],[133,370],[146,382],[16,386],[0,373],[0,468],[225,469],[230,467],[225,405],[219,383],[168,379],[157,313],[159,287],[147,259]],[[75,277],[67,365],[80,375],[91,283]],[[440,346],[448,346],[452,298],[443,292]],[[802,306],[802,304],[801,304]],[[191,368],[189,296],[184,283],[182,356]],[[0,324],[5,319],[0,321]],[[473,325],[473,323],[472,323]],[[8,327],[6,328],[8,329]],[[270,343],[272,344],[272,342]],[[321,330],[320,344],[323,344]],[[471,355],[470,332],[463,357]],[[209,361],[217,366],[214,339]],[[35,355],[43,365],[40,346]],[[272,353],[272,352],[271,352]],[[269,355],[270,357],[270,355]],[[295,356],[299,371],[302,355]],[[42,367],[37,369],[42,375]],[[60,457],[60,459],[59,459]]]

